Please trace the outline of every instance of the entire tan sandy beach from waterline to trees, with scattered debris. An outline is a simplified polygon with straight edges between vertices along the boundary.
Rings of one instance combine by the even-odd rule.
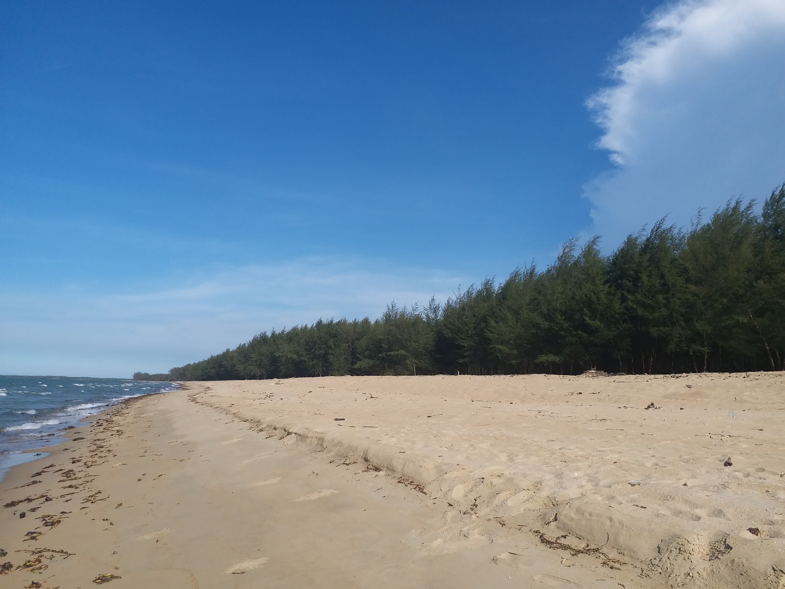
[[[189,382],[0,481],[0,587],[781,589],[783,393],[783,373]]]

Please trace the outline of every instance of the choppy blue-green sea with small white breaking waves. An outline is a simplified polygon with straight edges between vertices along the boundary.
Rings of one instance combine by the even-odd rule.
[[[64,428],[132,397],[177,390],[173,382],[0,375],[0,480],[16,464],[46,456]],[[41,452],[26,452],[41,449]]]

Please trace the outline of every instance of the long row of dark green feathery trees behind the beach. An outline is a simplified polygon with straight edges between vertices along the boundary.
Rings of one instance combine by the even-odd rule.
[[[785,184],[755,209],[733,199],[686,230],[663,219],[608,255],[597,237],[570,240],[545,270],[521,267],[444,303],[265,331],[134,379],[783,370]]]

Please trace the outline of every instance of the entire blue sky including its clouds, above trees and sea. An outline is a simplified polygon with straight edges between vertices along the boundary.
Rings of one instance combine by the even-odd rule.
[[[0,373],[166,371],[785,181],[781,0],[0,23]]]

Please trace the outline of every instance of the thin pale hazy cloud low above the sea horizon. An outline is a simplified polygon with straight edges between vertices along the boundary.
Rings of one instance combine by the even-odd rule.
[[[173,289],[96,294],[80,287],[0,295],[0,374],[130,376],[168,371],[260,331],[381,315],[445,300],[462,282],[438,270],[369,269],[304,258],[227,268]],[[464,280],[464,282],[466,282]]]

